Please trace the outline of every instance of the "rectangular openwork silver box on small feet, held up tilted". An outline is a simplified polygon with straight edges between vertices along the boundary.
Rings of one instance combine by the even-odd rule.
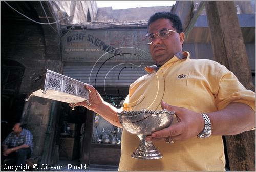
[[[86,83],[72,79],[49,69],[36,73],[31,81],[30,97],[37,96],[66,103],[78,103],[89,100],[89,91],[84,88]]]

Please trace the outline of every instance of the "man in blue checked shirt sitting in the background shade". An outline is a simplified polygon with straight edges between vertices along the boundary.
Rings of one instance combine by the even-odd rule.
[[[16,123],[12,130],[2,143],[2,162],[6,158],[12,158],[16,160],[16,165],[25,165],[33,150],[33,135],[20,123]]]

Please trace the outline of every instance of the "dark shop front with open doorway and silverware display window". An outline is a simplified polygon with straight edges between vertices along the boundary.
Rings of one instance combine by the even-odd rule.
[[[102,98],[120,108],[125,97]],[[57,134],[59,137],[56,138],[59,147],[58,164],[88,164],[91,168],[119,165],[122,128],[112,125],[97,113],[89,112],[82,106],[72,110],[67,103],[61,103],[60,109]]]

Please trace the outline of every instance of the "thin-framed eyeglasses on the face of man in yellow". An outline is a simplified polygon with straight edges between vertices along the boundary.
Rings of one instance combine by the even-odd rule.
[[[174,30],[170,30],[170,29],[160,29],[159,31],[157,31],[157,33],[147,33],[146,36],[144,37],[144,40],[146,41],[147,44],[152,44],[152,42],[154,41],[156,35],[161,39],[167,39],[170,36],[170,32],[176,32]]]

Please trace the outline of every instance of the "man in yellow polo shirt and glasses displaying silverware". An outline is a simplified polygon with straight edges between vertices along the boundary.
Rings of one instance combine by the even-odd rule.
[[[255,127],[255,93],[246,90],[236,76],[219,63],[190,59],[182,52],[184,41],[179,17],[156,13],[148,21],[145,39],[156,66],[130,85],[124,110],[175,111],[171,126],[154,132],[148,140],[163,153],[157,160],[131,158],[140,140],[123,130],[120,171],[224,171],[222,135],[235,135]],[[99,93],[91,91],[88,105],[112,124],[118,122],[116,109]]]

